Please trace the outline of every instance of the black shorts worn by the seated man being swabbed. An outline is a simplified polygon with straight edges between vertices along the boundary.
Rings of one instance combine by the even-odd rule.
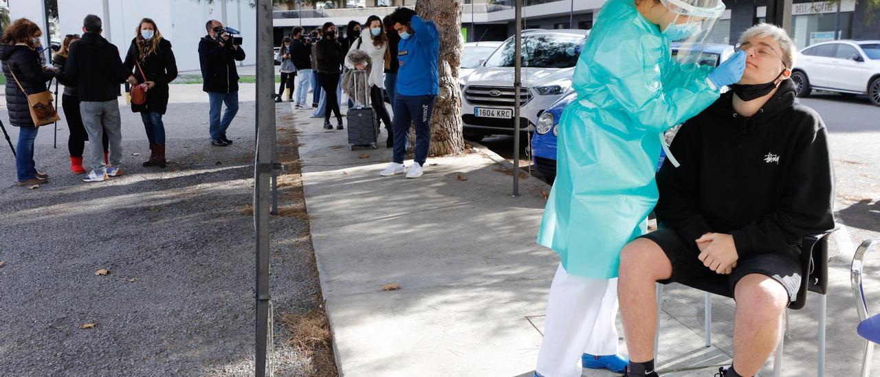
[[[672,276],[658,283],[684,283],[701,277],[718,276],[717,272],[709,270],[703,262],[700,262],[698,258],[700,248],[697,248],[697,243],[693,240],[686,242],[670,228],[660,228],[640,238],[654,241],[672,263]],[[801,262],[789,250],[746,255],[740,258],[737,267],[726,276],[730,292],[734,292],[739,279],[749,274],[760,274],[778,281],[788,291],[790,301],[797,298],[797,291],[801,288]]]

